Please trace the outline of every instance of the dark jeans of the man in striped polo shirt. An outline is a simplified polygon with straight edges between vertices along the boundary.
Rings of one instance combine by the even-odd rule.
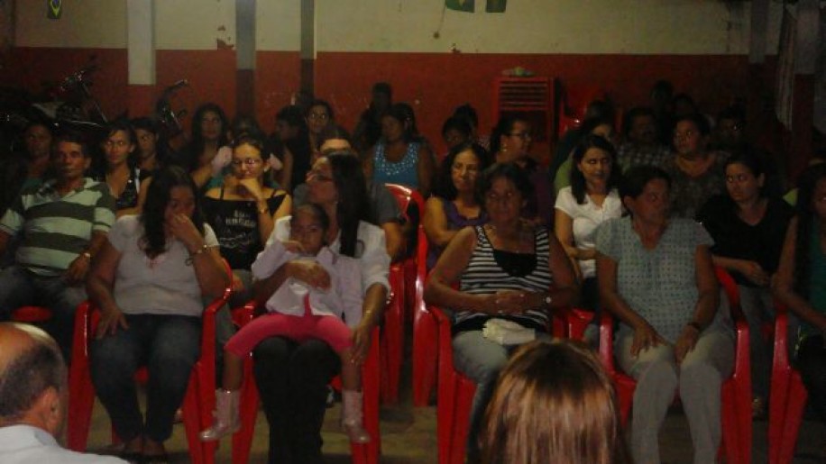
[[[43,277],[18,265],[0,271],[0,321],[8,321],[12,310],[25,305],[50,308],[51,319],[43,330],[58,342],[63,358],[71,360],[75,309],[86,300],[86,288],[69,287],[63,277]]]

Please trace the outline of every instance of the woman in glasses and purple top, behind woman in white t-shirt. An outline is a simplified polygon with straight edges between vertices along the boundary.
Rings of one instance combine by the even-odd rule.
[[[527,120],[502,116],[491,132],[491,153],[497,163],[516,163],[528,173],[534,194],[526,200],[523,217],[548,229],[554,223],[554,186],[546,168],[530,157],[533,132]]]

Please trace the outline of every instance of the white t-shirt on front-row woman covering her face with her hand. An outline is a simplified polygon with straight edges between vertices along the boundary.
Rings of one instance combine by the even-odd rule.
[[[187,247],[172,240],[155,259],[143,252],[143,226],[135,215],[117,220],[109,243],[121,253],[115,270],[115,302],[124,314],[177,314],[199,317],[204,312],[201,287]],[[217,247],[215,232],[204,224],[204,242]]]

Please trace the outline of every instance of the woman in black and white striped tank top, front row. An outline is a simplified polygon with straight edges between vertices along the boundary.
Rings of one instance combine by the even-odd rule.
[[[505,319],[545,338],[552,308],[574,303],[578,287],[570,261],[553,234],[521,219],[532,195],[528,176],[513,163],[482,175],[479,201],[490,222],[458,232],[436,262],[427,302],[454,311],[456,369],[476,383],[468,432],[468,462],[479,460],[477,434],[501,368],[515,345],[482,336],[491,319]],[[460,289],[452,286],[461,282]]]

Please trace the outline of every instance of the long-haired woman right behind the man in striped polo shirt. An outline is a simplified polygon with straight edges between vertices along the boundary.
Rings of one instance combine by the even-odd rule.
[[[129,122],[118,120],[110,123],[100,149],[102,156],[96,159],[92,177],[109,186],[112,196],[115,196],[117,217],[139,214],[139,204],[142,203],[139,201],[142,197],[141,169],[138,168],[135,135]]]

